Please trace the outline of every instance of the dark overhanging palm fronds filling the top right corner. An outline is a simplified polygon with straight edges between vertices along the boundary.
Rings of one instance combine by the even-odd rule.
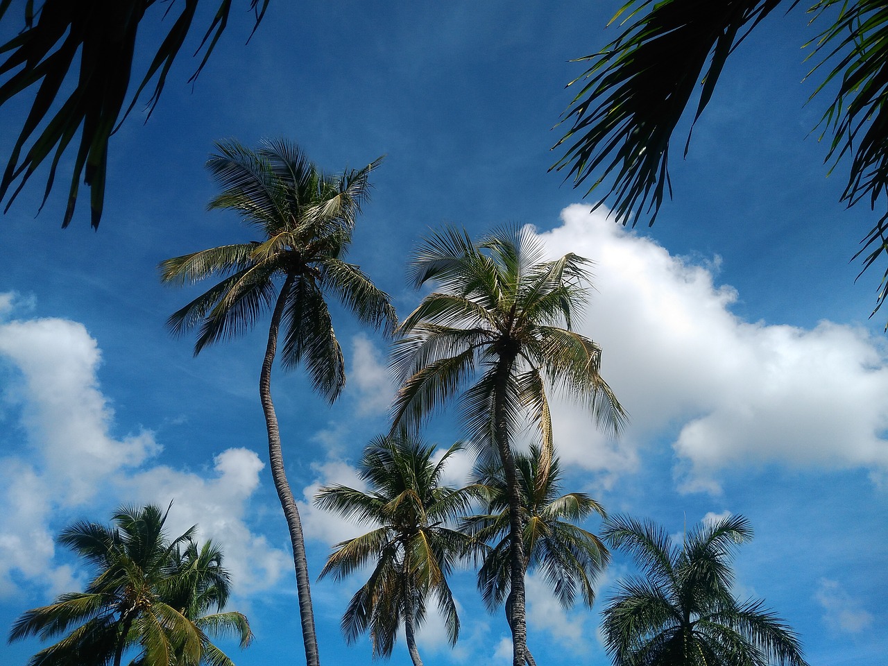
[[[670,140],[692,106],[698,83],[694,122],[709,104],[734,48],[769,13],[779,7],[789,12],[797,4],[800,0],[622,4],[611,22],[624,16],[628,27],[601,51],[579,59],[590,67],[571,82],[582,89],[564,117],[563,122],[572,123],[558,143],[565,154],[551,169],[567,169],[566,178],[575,187],[588,179],[587,194],[608,182],[607,194],[596,205],[610,202],[622,224],[631,220],[634,226],[646,213],[653,224],[666,189],[671,194]],[[808,12],[815,25],[826,21],[807,43],[815,44],[813,54],[821,58],[813,70],[825,72],[814,94],[837,83],[829,85],[836,98],[819,125],[823,135],[832,135],[826,161],[833,163],[832,170],[851,156],[842,201],[850,207],[864,200],[875,210],[888,194],[888,13],[882,0],[810,0]],[[685,152],[689,145],[690,136]],[[854,257],[863,258],[863,270],[888,248],[885,234],[888,213],[878,218]],[[886,296],[888,289],[880,290],[876,310]]]

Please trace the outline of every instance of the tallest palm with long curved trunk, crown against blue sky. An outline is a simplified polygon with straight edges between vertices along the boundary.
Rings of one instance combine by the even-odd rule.
[[[339,299],[363,323],[392,326],[395,314],[385,292],[345,262],[355,218],[369,195],[369,174],[382,158],[339,176],[321,172],[285,140],[266,141],[256,152],[230,141],[217,145],[207,167],[223,192],[210,209],[236,210],[263,240],[201,250],[163,261],[161,279],[183,284],[222,277],[168,324],[177,334],[199,326],[194,354],[250,329],[270,308],[271,322],[259,397],[266,417],[268,457],[293,544],[299,614],[308,666],[318,666],[302,521],[284,472],[281,435],[271,395],[271,374],[283,329],[285,369],[300,362],[315,392],[332,402],[345,385],[345,360],[333,330],[326,297]]]

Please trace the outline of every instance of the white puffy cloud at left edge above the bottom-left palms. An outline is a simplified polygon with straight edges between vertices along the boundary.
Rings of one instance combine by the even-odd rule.
[[[0,311],[15,305],[0,297]],[[199,522],[202,538],[222,543],[237,591],[273,585],[289,558],[247,526],[247,501],[263,467],[256,453],[222,452],[210,478],[156,464],[162,448],[152,432],[113,434],[114,411],[96,375],[100,360],[96,340],[75,321],[0,321],[8,440],[0,459],[0,595],[16,593],[14,581],[48,585],[51,593],[76,587],[76,573],[55,558],[60,526],[51,522],[59,508],[88,512],[170,498],[170,530]]]

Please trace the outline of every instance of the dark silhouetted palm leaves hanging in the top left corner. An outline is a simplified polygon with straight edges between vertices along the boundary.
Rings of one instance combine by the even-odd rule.
[[[253,28],[255,31],[265,15],[268,0],[249,1],[256,18]],[[46,202],[61,156],[80,131],[62,226],[67,226],[74,217],[80,179],[83,177],[84,183],[90,187],[91,225],[94,228],[99,227],[105,201],[108,140],[152,81],[155,83],[154,91],[148,99],[148,114],[154,109],[173,60],[191,31],[198,4],[198,0],[184,3],[170,30],[158,44],[139,88],[124,109],[130,89],[139,26],[145,20],[145,13],[155,2],[156,0],[44,0],[36,11],[34,0],[24,3],[24,29],[0,46],[0,52],[9,53],[0,62],[0,76],[4,77],[0,78],[0,106],[21,91],[35,85],[38,87],[19,138],[6,163],[3,178],[0,179],[2,200],[12,183],[20,178],[20,184],[10,196],[5,210],[9,210],[28,178],[54,150],[44,192],[44,203]],[[0,2],[0,21],[4,23],[12,20],[11,12],[8,11],[10,4],[9,0]],[[232,0],[217,0],[215,15],[194,53],[197,55],[203,52],[202,60],[189,83],[200,74],[225,30],[231,4]],[[165,11],[161,11],[159,7],[157,9],[156,17],[165,17],[170,12],[170,7]],[[144,36],[145,30],[142,33]],[[51,116],[50,111],[53,102],[59,97],[59,91],[70,87],[63,83],[72,69],[78,72],[76,81],[68,82],[74,83],[74,90]],[[30,142],[26,151],[28,141],[42,123],[43,130]],[[22,151],[25,151],[24,156]]]

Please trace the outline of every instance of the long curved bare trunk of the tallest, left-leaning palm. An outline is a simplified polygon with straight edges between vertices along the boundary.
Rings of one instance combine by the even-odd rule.
[[[266,415],[268,430],[268,462],[272,468],[274,488],[281,500],[283,515],[287,519],[289,540],[293,544],[293,565],[296,568],[296,588],[299,596],[299,617],[302,621],[302,640],[305,643],[305,663],[307,666],[320,666],[318,656],[318,638],[314,630],[314,612],[312,609],[312,592],[308,579],[308,563],[305,559],[305,539],[302,535],[302,519],[293,493],[289,489],[287,474],[284,472],[283,455],[281,453],[281,431],[278,428],[277,415],[272,402],[272,364],[277,352],[278,330],[281,328],[283,308],[293,286],[295,276],[287,275],[281,293],[274,304],[271,325],[268,329],[268,345],[266,358],[262,361],[262,372],[259,375],[259,399],[262,400],[262,411]]]

